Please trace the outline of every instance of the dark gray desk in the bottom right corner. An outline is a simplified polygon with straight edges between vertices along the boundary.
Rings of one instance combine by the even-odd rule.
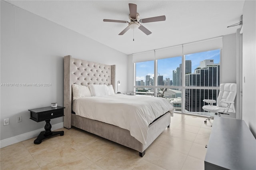
[[[256,169],[256,139],[243,120],[214,117],[204,164],[206,169]]]

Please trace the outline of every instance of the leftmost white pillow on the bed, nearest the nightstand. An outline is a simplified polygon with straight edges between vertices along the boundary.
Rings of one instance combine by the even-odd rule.
[[[73,100],[82,97],[91,97],[92,94],[88,86],[72,84]]]

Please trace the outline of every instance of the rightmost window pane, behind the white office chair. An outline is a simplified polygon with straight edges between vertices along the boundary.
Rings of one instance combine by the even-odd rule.
[[[220,86],[220,49],[185,55],[185,61],[185,112],[208,115],[202,109],[205,105],[203,99],[217,100]]]

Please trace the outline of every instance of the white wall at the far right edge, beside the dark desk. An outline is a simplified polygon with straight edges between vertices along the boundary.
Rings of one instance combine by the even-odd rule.
[[[243,105],[242,119],[256,138],[256,1],[243,9]],[[245,79],[245,81],[244,81]]]

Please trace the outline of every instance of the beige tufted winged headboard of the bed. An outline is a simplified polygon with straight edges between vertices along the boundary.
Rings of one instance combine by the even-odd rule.
[[[88,86],[106,84],[115,91],[116,65],[106,65],[81,59],[64,57],[64,127],[71,128],[72,84]]]

